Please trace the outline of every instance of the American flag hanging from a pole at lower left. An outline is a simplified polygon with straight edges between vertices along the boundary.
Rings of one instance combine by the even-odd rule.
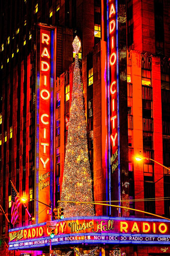
[[[20,197],[17,195],[15,190],[12,187],[12,195],[11,195],[11,223],[14,225],[16,220],[19,217],[18,208],[21,205]]]

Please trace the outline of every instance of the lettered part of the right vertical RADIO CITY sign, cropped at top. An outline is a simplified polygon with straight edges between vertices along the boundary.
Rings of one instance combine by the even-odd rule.
[[[117,54],[116,54],[116,4],[108,0],[108,68],[109,68],[109,123],[111,172],[118,167],[118,100],[117,100]]]

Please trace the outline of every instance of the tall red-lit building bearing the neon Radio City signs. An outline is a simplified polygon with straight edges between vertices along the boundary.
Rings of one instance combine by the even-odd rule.
[[[7,0],[0,10],[0,254],[49,255],[77,35],[93,200],[116,207],[57,220],[52,250],[170,255],[169,2]],[[13,189],[26,203],[12,226]]]

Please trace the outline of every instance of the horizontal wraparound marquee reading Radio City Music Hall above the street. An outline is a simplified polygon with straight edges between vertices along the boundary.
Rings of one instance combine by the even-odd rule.
[[[9,230],[9,249],[49,245],[46,223]],[[56,221],[52,245],[66,243],[170,244],[170,221],[109,217],[77,217]],[[126,242],[125,242],[126,241]],[[27,247],[28,246],[28,247]]]

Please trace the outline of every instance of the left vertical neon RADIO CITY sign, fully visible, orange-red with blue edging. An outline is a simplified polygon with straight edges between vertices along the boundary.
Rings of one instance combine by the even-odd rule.
[[[36,200],[49,205],[53,166],[54,31],[39,26],[36,89]],[[36,223],[48,219],[44,205],[36,201]]]

